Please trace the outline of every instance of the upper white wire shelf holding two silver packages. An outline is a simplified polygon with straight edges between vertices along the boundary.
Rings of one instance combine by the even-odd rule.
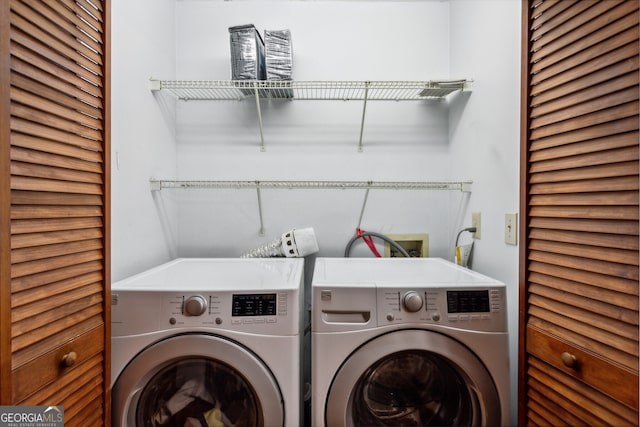
[[[261,98],[329,101],[420,101],[470,91],[472,80],[427,81],[273,81],[151,80],[151,90],[166,90],[180,100]]]

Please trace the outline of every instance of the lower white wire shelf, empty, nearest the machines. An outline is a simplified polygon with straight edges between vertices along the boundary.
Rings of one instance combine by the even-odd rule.
[[[472,181],[173,181],[151,179],[150,184],[151,191],[163,189],[337,189],[470,192]]]

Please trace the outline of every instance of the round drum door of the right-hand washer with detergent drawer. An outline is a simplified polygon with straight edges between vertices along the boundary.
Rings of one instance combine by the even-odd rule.
[[[325,406],[327,426],[498,426],[491,376],[465,346],[424,330],[390,332],[340,367]]]

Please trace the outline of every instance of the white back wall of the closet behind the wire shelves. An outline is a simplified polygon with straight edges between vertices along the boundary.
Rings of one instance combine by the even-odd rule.
[[[228,79],[228,27],[253,23],[292,34],[296,80],[448,78],[446,2],[180,2],[177,76]],[[331,23],[331,28],[329,28]],[[452,103],[457,102],[456,99]],[[266,152],[259,151],[253,102],[178,105],[178,173],[183,179],[457,180],[448,154],[447,102],[370,102],[364,151],[357,151],[361,102],[264,101]],[[164,197],[163,192],[163,197]],[[237,256],[294,227],[313,226],[320,255],[342,256],[358,224],[364,191],[263,190],[265,237],[256,193],[173,192],[178,252]],[[451,257],[468,195],[372,191],[361,226],[429,233],[430,253]],[[370,255],[364,245],[354,255]]]

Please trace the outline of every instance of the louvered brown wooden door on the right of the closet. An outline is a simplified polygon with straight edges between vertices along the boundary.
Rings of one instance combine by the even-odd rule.
[[[638,16],[523,2],[521,425],[638,423]]]

